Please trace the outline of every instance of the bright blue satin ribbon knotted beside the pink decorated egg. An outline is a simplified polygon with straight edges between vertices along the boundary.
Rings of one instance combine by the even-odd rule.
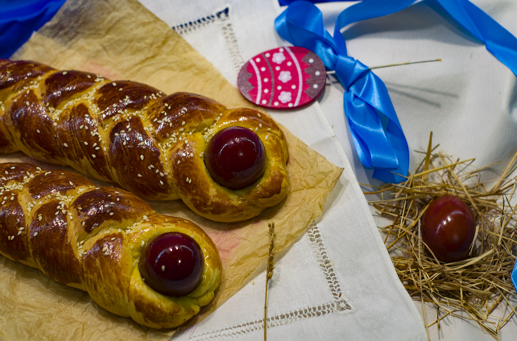
[[[503,26],[467,0],[426,1],[441,5],[440,8],[517,74],[517,39]],[[336,71],[336,77],[345,88],[345,116],[359,160],[364,166],[374,168],[374,178],[385,182],[405,180],[394,173],[403,176],[408,173],[406,138],[386,86],[367,66],[347,55],[340,30],[360,20],[398,12],[414,2],[364,0],[339,14],[333,36],[323,25],[321,11],[306,1],[291,3],[275,20],[275,28],[282,38],[313,51],[327,69]]]

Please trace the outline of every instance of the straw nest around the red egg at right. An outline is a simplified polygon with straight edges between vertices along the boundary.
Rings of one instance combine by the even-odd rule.
[[[405,183],[386,184],[364,194],[381,196],[370,205],[379,215],[393,220],[379,229],[390,254],[397,254],[391,259],[407,292],[422,302],[422,308],[424,302],[432,302],[437,308],[432,319],[424,310],[428,337],[430,326],[437,323],[439,330],[439,321],[454,315],[479,322],[498,339],[499,329],[516,312],[510,298],[516,295],[510,275],[517,251],[517,205],[512,207],[510,200],[517,179],[506,176],[515,169],[517,153],[500,180],[489,185],[480,182],[481,172],[489,166],[472,169],[474,159],[453,160],[434,152],[438,146],[432,148],[431,137],[432,133],[427,153],[422,152],[425,158]],[[425,209],[432,200],[447,194],[465,201],[477,221],[470,258],[453,263],[439,262],[420,238]],[[506,305],[505,316],[494,318],[491,314],[500,304]]]

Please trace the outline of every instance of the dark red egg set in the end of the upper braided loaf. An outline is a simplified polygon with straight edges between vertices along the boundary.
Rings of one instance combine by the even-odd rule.
[[[240,190],[264,173],[266,150],[253,131],[227,127],[210,139],[205,151],[205,165],[214,181],[231,190]]]

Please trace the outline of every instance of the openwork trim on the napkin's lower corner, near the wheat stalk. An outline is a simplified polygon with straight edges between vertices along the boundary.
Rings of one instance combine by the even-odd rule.
[[[313,226],[307,232],[309,240],[311,241],[316,259],[320,264],[321,269],[325,275],[327,283],[329,285],[330,292],[332,293],[334,300],[321,305],[307,307],[291,311],[285,314],[279,314],[276,316],[267,318],[267,327],[281,326],[282,324],[291,323],[301,319],[306,319],[315,316],[322,316],[325,314],[346,314],[353,312],[353,306],[346,301],[346,298],[341,292],[339,282],[336,274],[332,268],[332,262],[327,256],[323,240],[320,235],[320,231],[317,226]],[[264,326],[264,319],[255,320],[252,322],[238,324],[237,326],[206,332],[203,334],[193,335],[190,340],[199,341],[214,341],[233,338],[240,335],[245,335],[249,332],[261,330]]]

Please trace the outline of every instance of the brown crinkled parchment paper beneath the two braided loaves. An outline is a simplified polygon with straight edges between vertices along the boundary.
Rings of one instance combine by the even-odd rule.
[[[57,69],[95,72],[111,80],[138,81],[165,94],[200,92],[228,107],[253,107],[214,66],[136,0],[69,0],[11,59],[32,59]],[[342,168],[286,129],[283,131],[290,152],[290,190],[280,204],[256,218],[215,223],[193,213],[181,200],[150,202],[160,214],[181,216],[200,225],[218,246],[223,262],[221,285],[211,305],[191,323],[200,321],[234,295],[265,262],[268,221],[276,223],[278,251],[285,249],[322,213],[325,199],[341,175]],[[35,162],[21,153],[2,154],[0,161],[59,168]],[[4,341],[166,340],[173,333],[149,329],[130,318],[111,314],[93,302],[88,293],[0,256],[0,337]]]

